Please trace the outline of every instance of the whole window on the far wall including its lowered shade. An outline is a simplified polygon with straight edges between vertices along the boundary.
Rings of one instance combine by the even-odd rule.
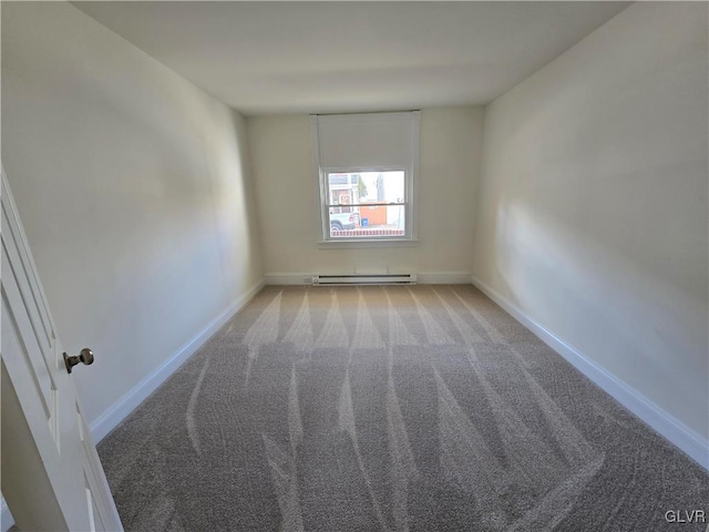
[[[322,243],[414,241],[419,112],[310,119]]]

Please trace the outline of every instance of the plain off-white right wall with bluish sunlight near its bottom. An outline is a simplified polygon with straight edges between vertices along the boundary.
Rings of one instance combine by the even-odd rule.
[[[474,274],[707,438],[702,2],[639,2],[486,109]]]

